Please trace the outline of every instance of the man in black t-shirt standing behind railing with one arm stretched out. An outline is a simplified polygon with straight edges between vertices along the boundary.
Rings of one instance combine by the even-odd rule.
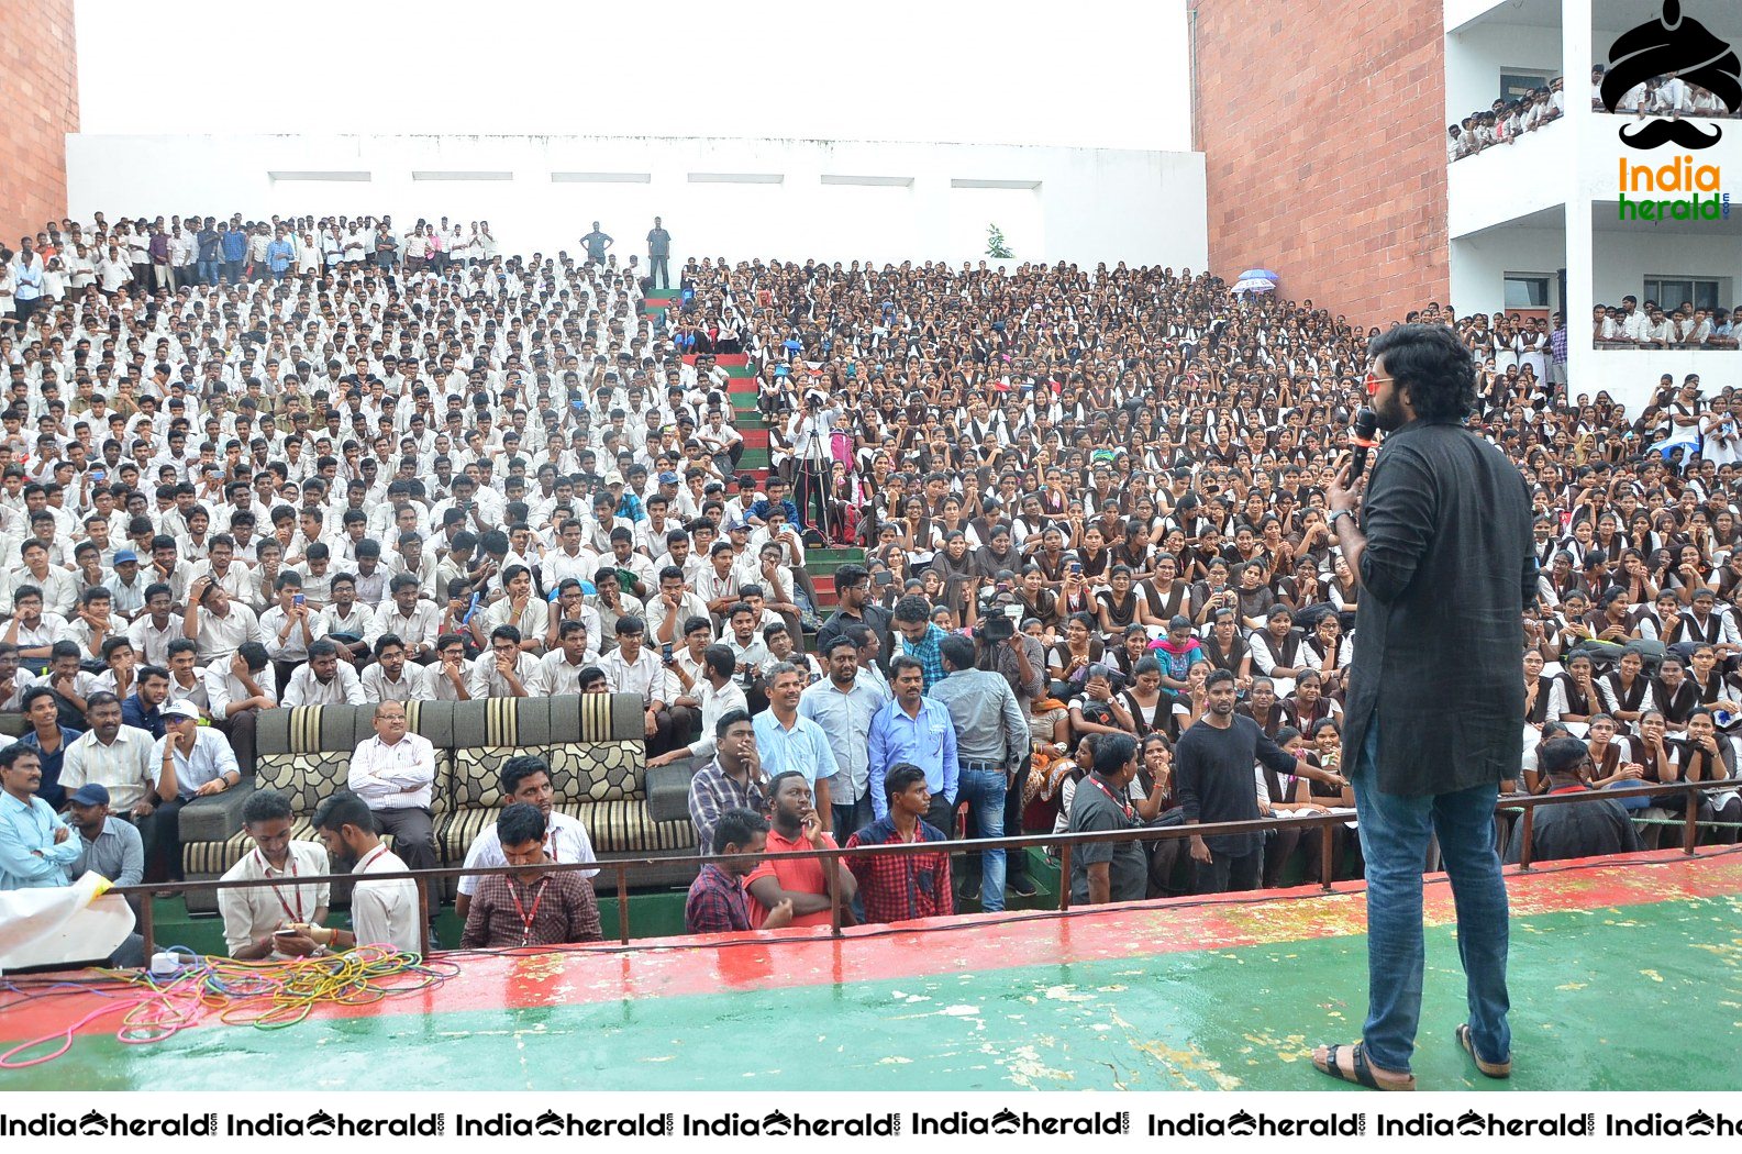
[[[1235,678],[1216,669],[1204,682],[1209,713],[1179,734],[1174,750],[1179,804],[1188,826],[1218,821],[1258,821],[1258,777],[1263,762],[1279,774],[1334,779],[1315,765],[1298,760],[1265,736],[1249,716],[1233,711]],[[1219,894],[1232,889],[1258,889],[1265,865],[1265,838],[1259,833],[1216,833],[1192,838],[1197,893]]]

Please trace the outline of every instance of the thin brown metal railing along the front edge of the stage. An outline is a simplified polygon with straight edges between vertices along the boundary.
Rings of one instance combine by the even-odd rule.
[[[1514,837],[1519,840],[1519,861],[1517,868],[1521,873],[1529,873],[1531,870],[1531,849],[1535,835],[1535,814],[1542,805],[1568,805],[1594,800],[1620,800],[1627,797],[1681,797],[1683,798],[1683,816],[1681,816],[1681,849],[1685,854],[1691,856],[1695,844],[1698,842],[1698,812],[1700,797],[1711,790],[1721,790],[1730,783],[1711,783],[1711,781],[1678,781],[1671,784],[1641,784],[1625,790],[1590,790],[1583,793],[1543,793],[1543,795],[1505,795],[1495,804],[1496,814],[1505,814],[1509,811],[1523,811],[1519,818],[1519,828]],[[1737,783],[1742,786],[1742,783]],[[1261,818],[1258,821],[1219,821],[1205,825],[1174,825],[1174,826],[1139,826],[1134,830],[1106,830],[1099,833],[1028,833],[1021,837],[995,837],[995,838],[962,838],[962,840],[944,840],[944,842],[892,842],[887,845],[855,845],[852,849],[834,847],[834,849],[807,849],[780,854],[760,854],[758,861],[803,861],[808,858],[824,859],[824,873],[829,882],[829,931],[833,936],[841,936],[841,894],[840,894],[840,872],[829,868],[827,863],[843,858],[873,858],[880,854],[963,854],[963,852],[981,852],[988,849],[1003,851],[1021,851],[1030,847],[1049,847],[1056,845],[1059,849],[1059,903],[1057,910],[1064,912],[1071,906],[1071,849],[1077,845],[1092,845],[1099,842],[1162,842],[1174,838],[1190,837],[1226,837],[1239,833],[1263,833],[1266,830],[1315,830],[1327,826],[1343,826],[1350,821],[1350,814],[1300,814],[1287,818]],[[1319,887],[1329,893],[1334,886],[1333,875],[1333,852],[1334,838],[1324,837],[1319,840]],[[728,861],[725,854],[697,854],[693,861],[702,865],[706,861]],[[538,866],[488,866],[488,868],[465,868],[465,866],[439,866],[436,870],[399,870],[399,872],[371,872],[368,880],[371,882],[392,882],[392,880],[411,880],[418,887],[418,933],[420,948],[429,952],[429,920],[430,920],[430,886],[436,882],[444,882],[456,877],[491,877],[503,873],[524,875],[531,872],[540,873],[566,873],[575,870],[592,872],[592,873],[613,873],[615,875],[615,896],[617,896],[617,940],[622,945],[629,943],[629,875],[639,870],[669,870],[672,863],[671,856],[665,858],[613,858],[610,861],[561,861],[561,863],[544,863]],[[1425,863],[1423,863],[1425,865]],[[174,891],[174,893],[204,893],[219,889],[258,889],[265,886],[282,887],[286,884],[294,886],[314,886],[314,884],[354,884],[361,880],[357,873],[322,873],[317,877],[298,877],[294,882],[286,882],[284,879],[239,879],[239,880],[206,880],[206,882],[157,882],[141,886],[115,886],[108,893],[120,894],[124,898],[139,898],[139,933],[145,938],[146,957],[152,955],[155,948],[153,934],[153,915],[152,915],[152,896]],[[594,879],[594,891],[598,891],[598,880]]]

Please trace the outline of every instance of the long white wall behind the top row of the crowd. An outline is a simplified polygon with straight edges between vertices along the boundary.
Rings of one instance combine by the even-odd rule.
[[[984,255],[998,223],[1017,261],[1207,265],[1204,155],[1002,145],[585,136],[66,138],[77,218],[103,211],[392,213],[488,218],[505,251],[577,249],[599,220],[645,253],[653,216],[674,258],[951,260]],[[273,176],[277,173],[279,176]],[[415,180],[507,173],[512,180]],[[613,176],[554,183],[550,173]],[[315,174],[317,180],[286,174]],[[368,174],[329,180],[321,174]],[[773,183],[702,178],[753,176]],[[824,178],[880,178],[841,185]],[[960,187],[969,181],[970,187]],[[1000,185],[1000,187],[972,187]]]

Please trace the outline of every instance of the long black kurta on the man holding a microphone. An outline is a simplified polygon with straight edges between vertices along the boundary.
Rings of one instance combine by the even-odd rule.
[[[1343,764],[1357,764],[1376,718],[1383,793],[1517,777],[1523,610],[1536,600],[1517,465],[1458,425],[1409,422],[1380,450],[1361,526]]]

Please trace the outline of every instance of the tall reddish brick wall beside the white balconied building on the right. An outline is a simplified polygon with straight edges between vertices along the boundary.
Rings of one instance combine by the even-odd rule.
[[[1211,272],[1359,324],[1444,302],[1442,2],[1192,7]]]

